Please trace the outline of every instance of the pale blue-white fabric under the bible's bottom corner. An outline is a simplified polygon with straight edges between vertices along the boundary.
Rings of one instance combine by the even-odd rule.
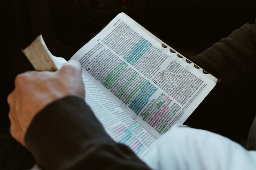
[[[255,170],[256,151],[209,131],[174,125],[143,161],[152,169]]]

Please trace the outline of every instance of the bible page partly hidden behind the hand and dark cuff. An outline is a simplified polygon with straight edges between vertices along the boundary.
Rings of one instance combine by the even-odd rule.
[[[58,68],[67,62],[61,57],[54,58],[58,62]],[[86,92],[85,102],[90,106],[105,131],[116,142],[130,147],[139,158],[145,156],[156,138],[84,76],[83,82]]]

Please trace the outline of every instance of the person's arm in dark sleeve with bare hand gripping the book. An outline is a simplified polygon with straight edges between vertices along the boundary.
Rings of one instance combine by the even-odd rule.
[[[110,138],[84,96],[78,62],[18,75],[8,96],[12,136],[43,169],[149,169]]]

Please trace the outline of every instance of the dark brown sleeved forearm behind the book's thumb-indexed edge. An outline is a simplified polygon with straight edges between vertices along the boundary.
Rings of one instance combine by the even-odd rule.
[[[255,24],[241,26],[193,59],[220,76],[223,85],[255,73]]]

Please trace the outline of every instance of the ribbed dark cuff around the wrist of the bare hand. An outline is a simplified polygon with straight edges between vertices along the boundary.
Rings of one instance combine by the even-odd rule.
[[[58,99],[43,108],[25,135],[28,150],[45,169],[58,169],[61,162],[68,163],[97,143],[114,141],[85,101],[76,96]]]

